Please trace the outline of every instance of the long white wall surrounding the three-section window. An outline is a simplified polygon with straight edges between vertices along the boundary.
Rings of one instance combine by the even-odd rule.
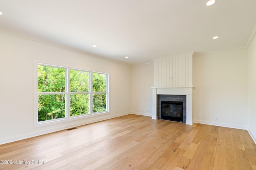
[[[130,66],[1,32],[0,48],[0,144],[130,113]],[[36,62],[109,73],[110,114],[34,128]]]

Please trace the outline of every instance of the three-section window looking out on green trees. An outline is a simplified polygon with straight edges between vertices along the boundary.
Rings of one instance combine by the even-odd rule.
[[[108,74],[37,65],[37,123],[108,112]]]

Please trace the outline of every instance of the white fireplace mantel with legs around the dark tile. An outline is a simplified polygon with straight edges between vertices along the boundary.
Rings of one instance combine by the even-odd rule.
[[[152,119],[157,119],[157,95],[186,95],[186,124],[192,125],[192,95],[194,87],[152,87]]]

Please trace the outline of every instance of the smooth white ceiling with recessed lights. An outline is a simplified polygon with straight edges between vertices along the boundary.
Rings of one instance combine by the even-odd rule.
[[[0,0],[0,27],[130,65],[193,51],[248,47],[256,33],[256,0],[205,4],[206,0]],[[219,38],[212,39],[216,35]]]

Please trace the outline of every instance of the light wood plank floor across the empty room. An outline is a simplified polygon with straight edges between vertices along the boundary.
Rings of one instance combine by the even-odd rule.
[[[131,114],[0,145],[0,160],[15,161],[1,170],[256,170],[256,145],[245,130]]]

